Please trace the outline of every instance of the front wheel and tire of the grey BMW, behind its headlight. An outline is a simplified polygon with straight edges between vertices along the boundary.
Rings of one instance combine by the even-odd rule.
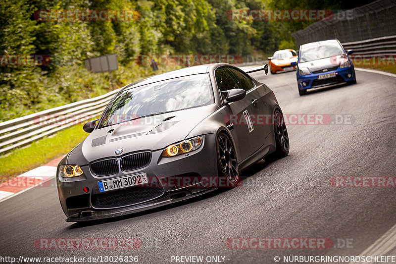
[[[228,135],[220,133],[216,139],[217,170],[219,177],[227,179],[224,187],[234,188],[240,180],[237,153]],[[219,184],[219,187],[222,184]]]

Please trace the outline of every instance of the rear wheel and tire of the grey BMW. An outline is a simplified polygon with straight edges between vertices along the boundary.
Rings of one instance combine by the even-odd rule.
[[[283,119],[283,114],[279,110],[275,111],[273,119],[276,149],[275,152],[271,154],[271,157],[284,158],[289,155],[289,134]]]

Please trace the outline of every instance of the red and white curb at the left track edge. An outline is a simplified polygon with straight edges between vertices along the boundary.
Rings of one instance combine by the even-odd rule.
[[[63,157],[55,158],[43,166],[29,170],[0,184],[0,203],[38,185],[50,181],[56,176],[56,167]]]

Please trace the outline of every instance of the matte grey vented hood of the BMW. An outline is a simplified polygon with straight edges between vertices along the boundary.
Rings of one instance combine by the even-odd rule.
[[[123,149],[122,155],[141,150],[164,149],[184,140],[199,122],[218,108],[215,104],[200,106],[95,129],[76,147],[75,152],[77,156],[82,155],[86,162],[91,162],[115,157],[114,152],[119,148]],[[69,155],[70,160],[75,159],[72,157],[73,151]]]

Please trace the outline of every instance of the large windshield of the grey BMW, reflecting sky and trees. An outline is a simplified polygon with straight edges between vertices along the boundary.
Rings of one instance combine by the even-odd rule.
[[[98,128],[147,115],[213,103],[209,74],[196,74],[126,90],[107,107]]]

